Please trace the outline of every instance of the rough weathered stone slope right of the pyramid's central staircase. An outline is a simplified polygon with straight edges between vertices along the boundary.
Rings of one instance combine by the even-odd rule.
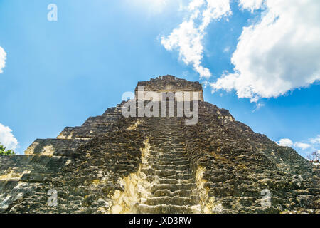
[[[199,104],[197,125],[184,128],[193,172],[203,169],[209,212],[319,213],[319,169],[289,147],[253,133],[228,110]],[[271,207],[262,207],[269,190]]]

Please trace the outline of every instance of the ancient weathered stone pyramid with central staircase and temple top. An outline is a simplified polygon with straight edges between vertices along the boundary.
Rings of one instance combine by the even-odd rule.
[[[198,123],[125,118],[122,102],[38,139],[0,157],[0,212],[320,212],[319,168],[203,101],[201,84],[162,76],[139,86],[201,93]]]

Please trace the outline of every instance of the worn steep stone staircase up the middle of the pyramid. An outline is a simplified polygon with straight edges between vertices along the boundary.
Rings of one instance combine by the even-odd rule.
[[[139,213],[200,213],[196,182],[190,170],[181,118],[149,118],[148,165],[142,168],[152,181],[151,195],[139,204]]]

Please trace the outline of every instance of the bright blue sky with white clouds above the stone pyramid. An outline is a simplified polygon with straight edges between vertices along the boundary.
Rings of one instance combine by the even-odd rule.
[[[303,7],[314,9],[318,1],[288,1],[299,7],[294,15],[277,6],[273,27],[264,24],[272,0],[222,1],[226,8],[200,0],[0,0],[0,47],[6,53],[1,60],[0,49],[0,142],[22,154],[36,138],[55,138],[65,126],[117,105],[137,81],[171,74],[206,83],[205,100],[255,132],[304,156],[320,150],[320,56],[312,51],[319,48],[319,26],[310,16],[286,24],[287,33],[275,30],[282,18],[304,16]],[[49,4],[58,6],[58,21],[48,21]],[[191,16],[207,9],[212,14],[201,31],[204,16]],[[191,20],[196,29],[185,32],[181,24]],[[311,29],[306,41],[299,34],[304,26]],[[203,50],[190,48],[184,38],[199,38]]]

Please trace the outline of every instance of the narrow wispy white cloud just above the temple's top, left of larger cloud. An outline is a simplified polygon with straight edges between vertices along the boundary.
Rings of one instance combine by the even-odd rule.
[[[178,50],[179,58],[191,64],[200,78],[210,78],[208,68],[202,66],[203,37],[213,20],[231,14],[229,0],[192,0],[186,7],[187,17],[169,36],[161,37],[161,44],[168,51]]]

